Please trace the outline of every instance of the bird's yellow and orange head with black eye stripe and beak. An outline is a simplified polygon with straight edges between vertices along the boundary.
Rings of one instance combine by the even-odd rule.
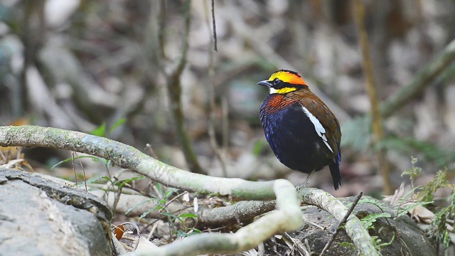
[[[264,80],[257,84],[269,87],[270,94],[286,94],[308,87],[299,73],[291,70],[278,70],[270,76],[269,80]]]

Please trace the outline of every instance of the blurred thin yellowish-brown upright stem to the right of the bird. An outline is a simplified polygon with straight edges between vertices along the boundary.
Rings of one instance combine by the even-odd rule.
[[[384,138],[384,129],[382,128],[382,117],[379,109],[378,95],[375,89],[375,78],[373,66],[371,65],[370,50],[368,49],[368,34],[365,28],[365,8],[360,0],[354,1],[355,20],[358,26],[359,43],[363,55],[363,70],[366,75],[367,82],[365,83],[368,97],[371,102],[371,116],[373,128],[373,143],[374,146]],[[392,184],[390,182],[390,163],[387,160],[387,152],[385,149],[377,149],[376,157],[380,174],[382,175],[383,191],[386,195],[391,194]]]

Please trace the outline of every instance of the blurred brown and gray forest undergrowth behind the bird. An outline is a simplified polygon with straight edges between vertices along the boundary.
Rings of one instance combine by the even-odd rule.
[[[286,68],[301,73],[342,124],[338,196],[381,191],[378,149],[387,149],[394,188],[411,156],[423,169],[415,183],[444,168],[454,180],[455,50],[449,46],[455,2],[363,4],[380,102],[413,90],[412,82],[425,78],[422,68],[448,54],[438,73],[384,114],[385,139],[375,146],[353,1],[215,1],[217,52],[211,2],[191,2],[181,104],[183,128],[202,169],[252,180],[306,178],[279,164],[259,123],[268,92],[256,83]],[[150,144],[161,161],[188,169],[169,97],[179,90],[169,74],[186,43],[185,13],[184,1],[1,0],[0,124],[81,132],[98,127],[139,149]],[[32,165],[44,170],[68,155],[26,151]],[[328,170],[309,185],[334,192]]]

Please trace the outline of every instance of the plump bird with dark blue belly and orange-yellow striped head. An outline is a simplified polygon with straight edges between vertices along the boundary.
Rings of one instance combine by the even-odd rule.
[[[278,70],[269,80],[257,84],[269,88],[259,119],[277,159],[289,169],[309,176],[328,166],[333,188],[338,190],[341,129],[335,114],[295,71]]]

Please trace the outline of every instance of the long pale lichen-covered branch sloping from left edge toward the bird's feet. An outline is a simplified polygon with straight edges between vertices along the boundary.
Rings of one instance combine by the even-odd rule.
[[[241,178],[218,178],[178,169],[164,164],[132,146],[82,132],[25,125],[0,127],[0,146],[44,146],[78,151],[112,160],[154,181],[203,194],[219,194],[243,200],[275,199],[274,181],[245,181]]]

